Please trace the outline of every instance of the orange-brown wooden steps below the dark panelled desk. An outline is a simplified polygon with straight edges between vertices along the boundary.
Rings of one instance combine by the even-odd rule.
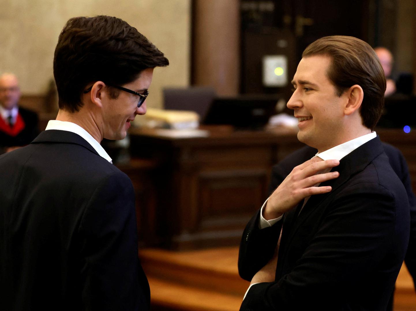
[[[152,311],[236,311],[249,283],[237,270],[238,247],[174,252],[139,252],[149,279]],[[403,266],[394,311],[415,311],[413,281]]]

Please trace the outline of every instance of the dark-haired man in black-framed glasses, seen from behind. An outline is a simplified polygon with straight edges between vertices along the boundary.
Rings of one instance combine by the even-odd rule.
[[[116,17],[74,17],[59,35],[59,113],[0,156],[1,310],[149,310],[134,189],[101,147],[126,136],[168,59]]]

